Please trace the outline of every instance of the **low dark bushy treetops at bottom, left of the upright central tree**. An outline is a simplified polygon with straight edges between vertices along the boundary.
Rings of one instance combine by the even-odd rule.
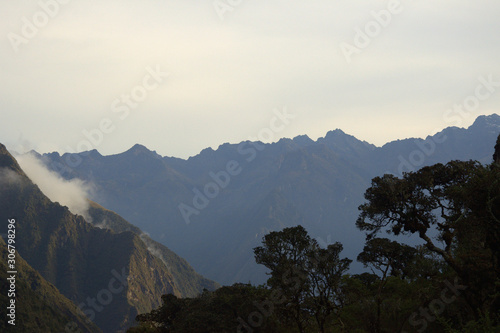
[[[246,284],[205,290],[195,298],[163,295],[162,306],[138,315],[140,326],[129,332],[286,332],[279,327],[272,305],[268,305],[270,299],[269,289]]]

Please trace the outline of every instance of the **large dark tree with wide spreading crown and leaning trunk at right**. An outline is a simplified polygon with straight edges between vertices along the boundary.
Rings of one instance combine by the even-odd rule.
[[[359,207],[356,225],[368,232],[368,238],[384,228],[394,235],[417,234],[429,250],[461,272],[453,257],[452,243],[465,209],[454,202],[454,196],[479,168],[482,166],[478,162],[453,161],[405,173],[402,179],[393,175],[376,177],[365,192],[368,203]],[[434,229],[444,248],[431,238]]]

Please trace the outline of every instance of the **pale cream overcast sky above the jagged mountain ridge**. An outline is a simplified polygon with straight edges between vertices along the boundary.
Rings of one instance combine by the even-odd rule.
[[[337,128],[378,146],[500,113],[500,2],[0,2],[0,142],[206,147]]]

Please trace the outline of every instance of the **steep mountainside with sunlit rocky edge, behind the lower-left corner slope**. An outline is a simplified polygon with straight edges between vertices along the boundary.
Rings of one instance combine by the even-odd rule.
[[[96,228],[51,202],[2,145],[0,184],[0,221],[16,219],[18,253],[104,332],[126,329],[163,294],[183,296],[139,235]]]

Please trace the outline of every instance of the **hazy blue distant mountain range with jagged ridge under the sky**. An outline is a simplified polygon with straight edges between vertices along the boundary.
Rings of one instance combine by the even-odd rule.
[[[355,258],[364,236],[354,225],[370,180],[450,160],[491,162],[500,116],[467,129],[376,147],[342,130],[272,144],[207,148],[189,159],[162,157],[139,144],[102,156],[97,150],[40,156],[66,179],[95,187],[92,200],[165,244],[222,284],[262,283],[252,248],[272,230],[302,224],[321,245],[340,241]],[[358,266],[359,267],[359,266]],[[356,269],[356,265],[353,265]]]

